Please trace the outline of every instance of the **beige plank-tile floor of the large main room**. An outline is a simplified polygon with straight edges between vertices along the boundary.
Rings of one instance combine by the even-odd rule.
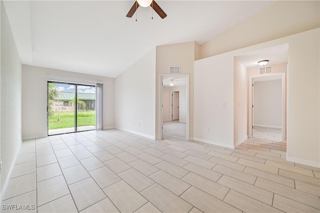
[[[23,141],[2,204],[34,204],[30,212],[320,211],[320,169],[286,161],[285,143],[247,139],[231,149],[164,133]]]

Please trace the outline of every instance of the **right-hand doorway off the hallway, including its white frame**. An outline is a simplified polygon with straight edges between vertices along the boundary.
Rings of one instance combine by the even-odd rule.
[[[285,140],[285,73],[249,78],[249,135]]]

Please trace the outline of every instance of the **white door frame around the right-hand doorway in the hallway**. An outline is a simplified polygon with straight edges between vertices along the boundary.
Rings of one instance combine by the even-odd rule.
[[[253,121],[253,114],[252,114],[252,99],[253,99],[253,92],[252,92],[252,82],[254,78],[261,78],[261,77],[269,77],[269,76],[276,76],[281,75],[281,141],[284,142],[286,139],[286,74],[285,72],[278,72],[278,73],[268,73],[261,75],[254,75],[249,76],[249,114],[248,114],[248,127],[249,127],[249,134],[248,137],[252,137],[252,121]]]

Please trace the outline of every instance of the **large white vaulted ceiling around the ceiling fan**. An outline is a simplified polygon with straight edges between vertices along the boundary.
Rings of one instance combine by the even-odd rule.
[[[134,0],[4,1],[24,64],[116,77],[157,45],[223,32],[274,1],[157,0],[167,17]],[[264,58],[263,58],[264,59]]]

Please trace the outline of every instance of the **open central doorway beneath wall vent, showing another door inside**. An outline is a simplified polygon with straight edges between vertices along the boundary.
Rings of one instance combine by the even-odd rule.
[[[186,75],[161,76],[162,138],[187,139],[188,89]]]

